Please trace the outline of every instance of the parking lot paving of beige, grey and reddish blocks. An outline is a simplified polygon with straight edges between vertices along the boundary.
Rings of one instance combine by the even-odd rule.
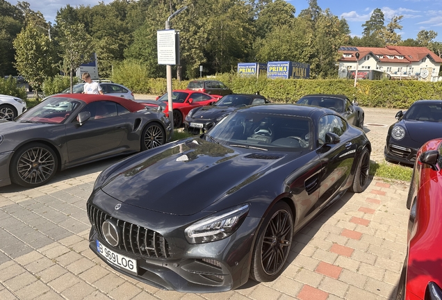
[[[396,110],[364,108],[372,160],[384,160]],[[391,299],[407,249],[408,185],[370,181],[295,235],[284,272],[214,294],[164,291],[115,272],[88,248],[85,202],[117,159],[76,167],[49,185],[0,188],[0,299]]]

